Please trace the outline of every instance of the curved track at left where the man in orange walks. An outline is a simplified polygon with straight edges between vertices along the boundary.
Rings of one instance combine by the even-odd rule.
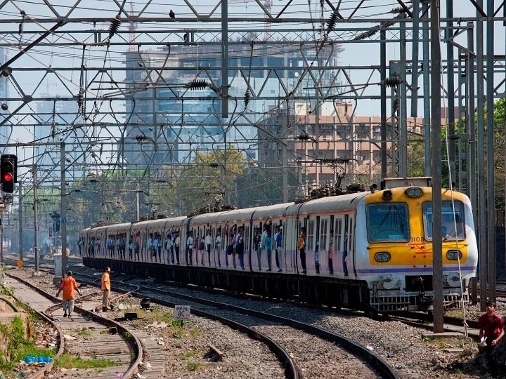
[[[33,280],[22,277],[22,273],[6,272],[9,278],[6,284],[14,288],[19,300],[31,306],[56,330],[58,352],[52,362],[63,359],[65,352],[70,357],[101,366],[72,371],[73,378],[118,378],[119,375],[133,378],[138,373],[143,363],[143,347],[134,331],[77,305],[72,319],[63,318],[60,300],[32,283]],[[84,305],[93,296],[96,293],[88,293],[78,302]],[[51,370],[53,366],[48,364],[31,373],[30,378],[42,378]]]

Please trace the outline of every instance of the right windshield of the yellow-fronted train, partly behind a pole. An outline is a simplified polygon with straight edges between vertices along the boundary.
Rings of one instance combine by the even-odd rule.
[[[464,206],[460,201],[455,201],[455,213],[451,201],[443,201],[441,204],[441,238],[443,241],[462,241],[465,239]],[[432,241],[432,202],[424,202],[425,239]]]

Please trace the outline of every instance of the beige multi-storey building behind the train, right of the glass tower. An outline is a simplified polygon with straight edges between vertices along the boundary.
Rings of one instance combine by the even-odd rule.
[[[381,176],[381,117],[353,114],[353,103],[340,102],[330,116],[316,116],[304,105],[295,115],[275,112],[259,129],[259,164],[282,166],[286,144],[290,169],[306,178],[306,190],[335,183],[378,182]],[[286,126],[286,133],[283,128]],[[408,119],[408,140],[422,140],[423,119]],[[408,142],[409,143],[409,142]],[[423,161],[424,157],[418,157]],[[391,171],[391,124],[387,119],[387,162]]]

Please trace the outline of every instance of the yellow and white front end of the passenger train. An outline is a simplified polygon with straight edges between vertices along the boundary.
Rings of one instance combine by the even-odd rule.
[[[442,191],[443,301],[469,301],[478,250],[472,208],[465,194]],[[379,312],[432,307],[432,187],[393,187],[357,204],[356,274],[368,282]],[[365,222],[359,222],[365,218]],[[363,246],[360,246],[363,245]]]

